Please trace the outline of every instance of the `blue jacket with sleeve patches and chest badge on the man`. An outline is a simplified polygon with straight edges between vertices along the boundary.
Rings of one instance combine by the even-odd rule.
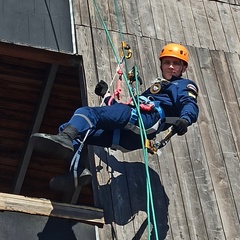
[[[197,121],[199,108],[197,105],[198,87],[184,78],[173,79],[161,84],[160,91],[148,88],[141,95],[159,101],[166,117],[180,117],[188,120],[189,125]]]

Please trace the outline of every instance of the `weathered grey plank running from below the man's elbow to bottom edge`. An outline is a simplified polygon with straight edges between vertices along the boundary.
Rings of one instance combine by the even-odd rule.
[[[206,230],[207,232],[204,232],[204,237],[201,236],[202,239],[206,240],[214,238],[225,239],[221,217],[219,215],[219,209],[209,174],[208,159],[205,155],[203,140],[201,139],[200,129],[197,125],[192,126],[191,129],[188,130],[187,140],[193,166],[194,180],[198,190],[196,193],[197,196],[191,195],[189,201],[194,205],[195,202],[192,197],[199,198],[197,202],[200,201],[203,214],[203,222],[201,224],[204,230],[197,229],[196,232]],[[193,219],[195,217],[198,218],[198,215],[193,215],[192,217]]]

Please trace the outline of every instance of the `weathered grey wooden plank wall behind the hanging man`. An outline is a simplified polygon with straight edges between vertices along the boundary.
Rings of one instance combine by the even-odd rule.
[[[240,2],[239,0],[96,1],[114,47],[118,19],[145,87],[160,76],[158,54],[167,42],[190,51],[186,76],[199,88],[198,122],[149,156],[157,239],[239,239],[240,236]],[[110,83],[116,60],[94,0],[73,0],[78,53],[83,55],[88,104],[99,105],[96,83]],[[119,18],[117,19],[117,14]],[[122,99],[127,98],[123,91]],[[141,151],[94,147],[104,208],[101,239],[147,239],[145,165]],[[154,239],[154,236],[152,237]]]

